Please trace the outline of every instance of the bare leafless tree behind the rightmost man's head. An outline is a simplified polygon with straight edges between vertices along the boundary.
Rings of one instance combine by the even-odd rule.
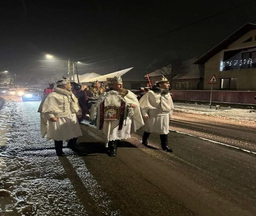
[[[172,58],[164,56],[155,59],[147,66],[148,71],[156,71],[160,75],[166,77],[172,87],[173,81],[187,73],[187,66],[182,62],[181,58]]]

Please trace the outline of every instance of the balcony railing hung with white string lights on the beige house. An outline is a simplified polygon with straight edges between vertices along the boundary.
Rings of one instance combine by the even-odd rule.
[[[239,60],[228,60],[222,62],[222,70],[240,70],[256,68],[256,59],[239,59]]]

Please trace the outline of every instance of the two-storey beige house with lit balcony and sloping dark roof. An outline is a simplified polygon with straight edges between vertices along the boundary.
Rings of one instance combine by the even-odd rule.
[[[256,91],[256,24],[246,23],[194,64],[204,65],[204,90]]]

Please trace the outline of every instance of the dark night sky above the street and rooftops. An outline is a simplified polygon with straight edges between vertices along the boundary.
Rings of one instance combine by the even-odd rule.
[[[256,0],[1,0],[0,71],[47,76],[65,67],[33,62],[50,53],[90,63],[80,74],[134,66],[129,76],[142,78],[153,59],[200,57],[255,14]]]

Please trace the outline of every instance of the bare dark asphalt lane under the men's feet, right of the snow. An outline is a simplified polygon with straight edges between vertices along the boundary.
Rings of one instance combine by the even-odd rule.
[[[87,136],[88,130],[96,137],[83,126]],[[142,147],[141,134],[122,142],[115,158],[99,143],[80,144],[95,155],[83,159],[124,215],[254,215],[254,155],[176,132],[168,136],[170,154],[160,150],[156,135],[151,148]]]

